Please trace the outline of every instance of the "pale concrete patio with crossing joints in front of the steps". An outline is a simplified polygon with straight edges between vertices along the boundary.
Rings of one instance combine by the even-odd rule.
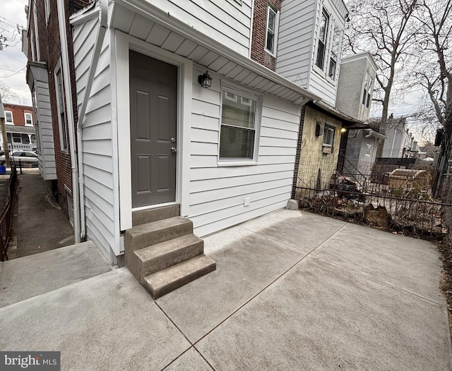
[[[289,210],[205,241],[217,270],[155,301],[121,268],[1,308],[0,350],[61,351],[61,370],[452,369],[432,243]]]

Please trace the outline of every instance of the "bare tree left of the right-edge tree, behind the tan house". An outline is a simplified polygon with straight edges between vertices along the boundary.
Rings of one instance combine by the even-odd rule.
[[[380,70],[376,75],[374,101],[381,104],[381,124],[388,118],[389,104],[410,87],[407,65],[416,42],[413,11],[420,0],[351,0],[350,22],[345,30],[345,52],[370,51]]]

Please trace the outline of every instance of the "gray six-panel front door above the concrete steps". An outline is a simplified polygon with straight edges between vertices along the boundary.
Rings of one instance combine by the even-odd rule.
[[[129,52],[132,207],[176,200],[177,67]]]

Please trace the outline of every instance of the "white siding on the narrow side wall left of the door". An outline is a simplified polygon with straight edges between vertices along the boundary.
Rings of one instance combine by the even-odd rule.
[[[97,18],[73,28],[74,64],[78,110],[81,109],[97,33]],[[83,120],[83,175],[86,236],[110,259],[119,255],[119,221],[115,219],[114,161],[112,139],[112,92],[110,88],[109,34],[97,63],[90,100]],[[116,145],[116,144],[115,144]]]

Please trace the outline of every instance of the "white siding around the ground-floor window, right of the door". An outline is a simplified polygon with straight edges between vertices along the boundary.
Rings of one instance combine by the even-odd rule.
[[[218,166],[220,94],[218,78],[208,90],[194,79],[188,217],[198,236],[281,209],[292,191],[299,107],[264,96],[257,164],[224,167]]]

